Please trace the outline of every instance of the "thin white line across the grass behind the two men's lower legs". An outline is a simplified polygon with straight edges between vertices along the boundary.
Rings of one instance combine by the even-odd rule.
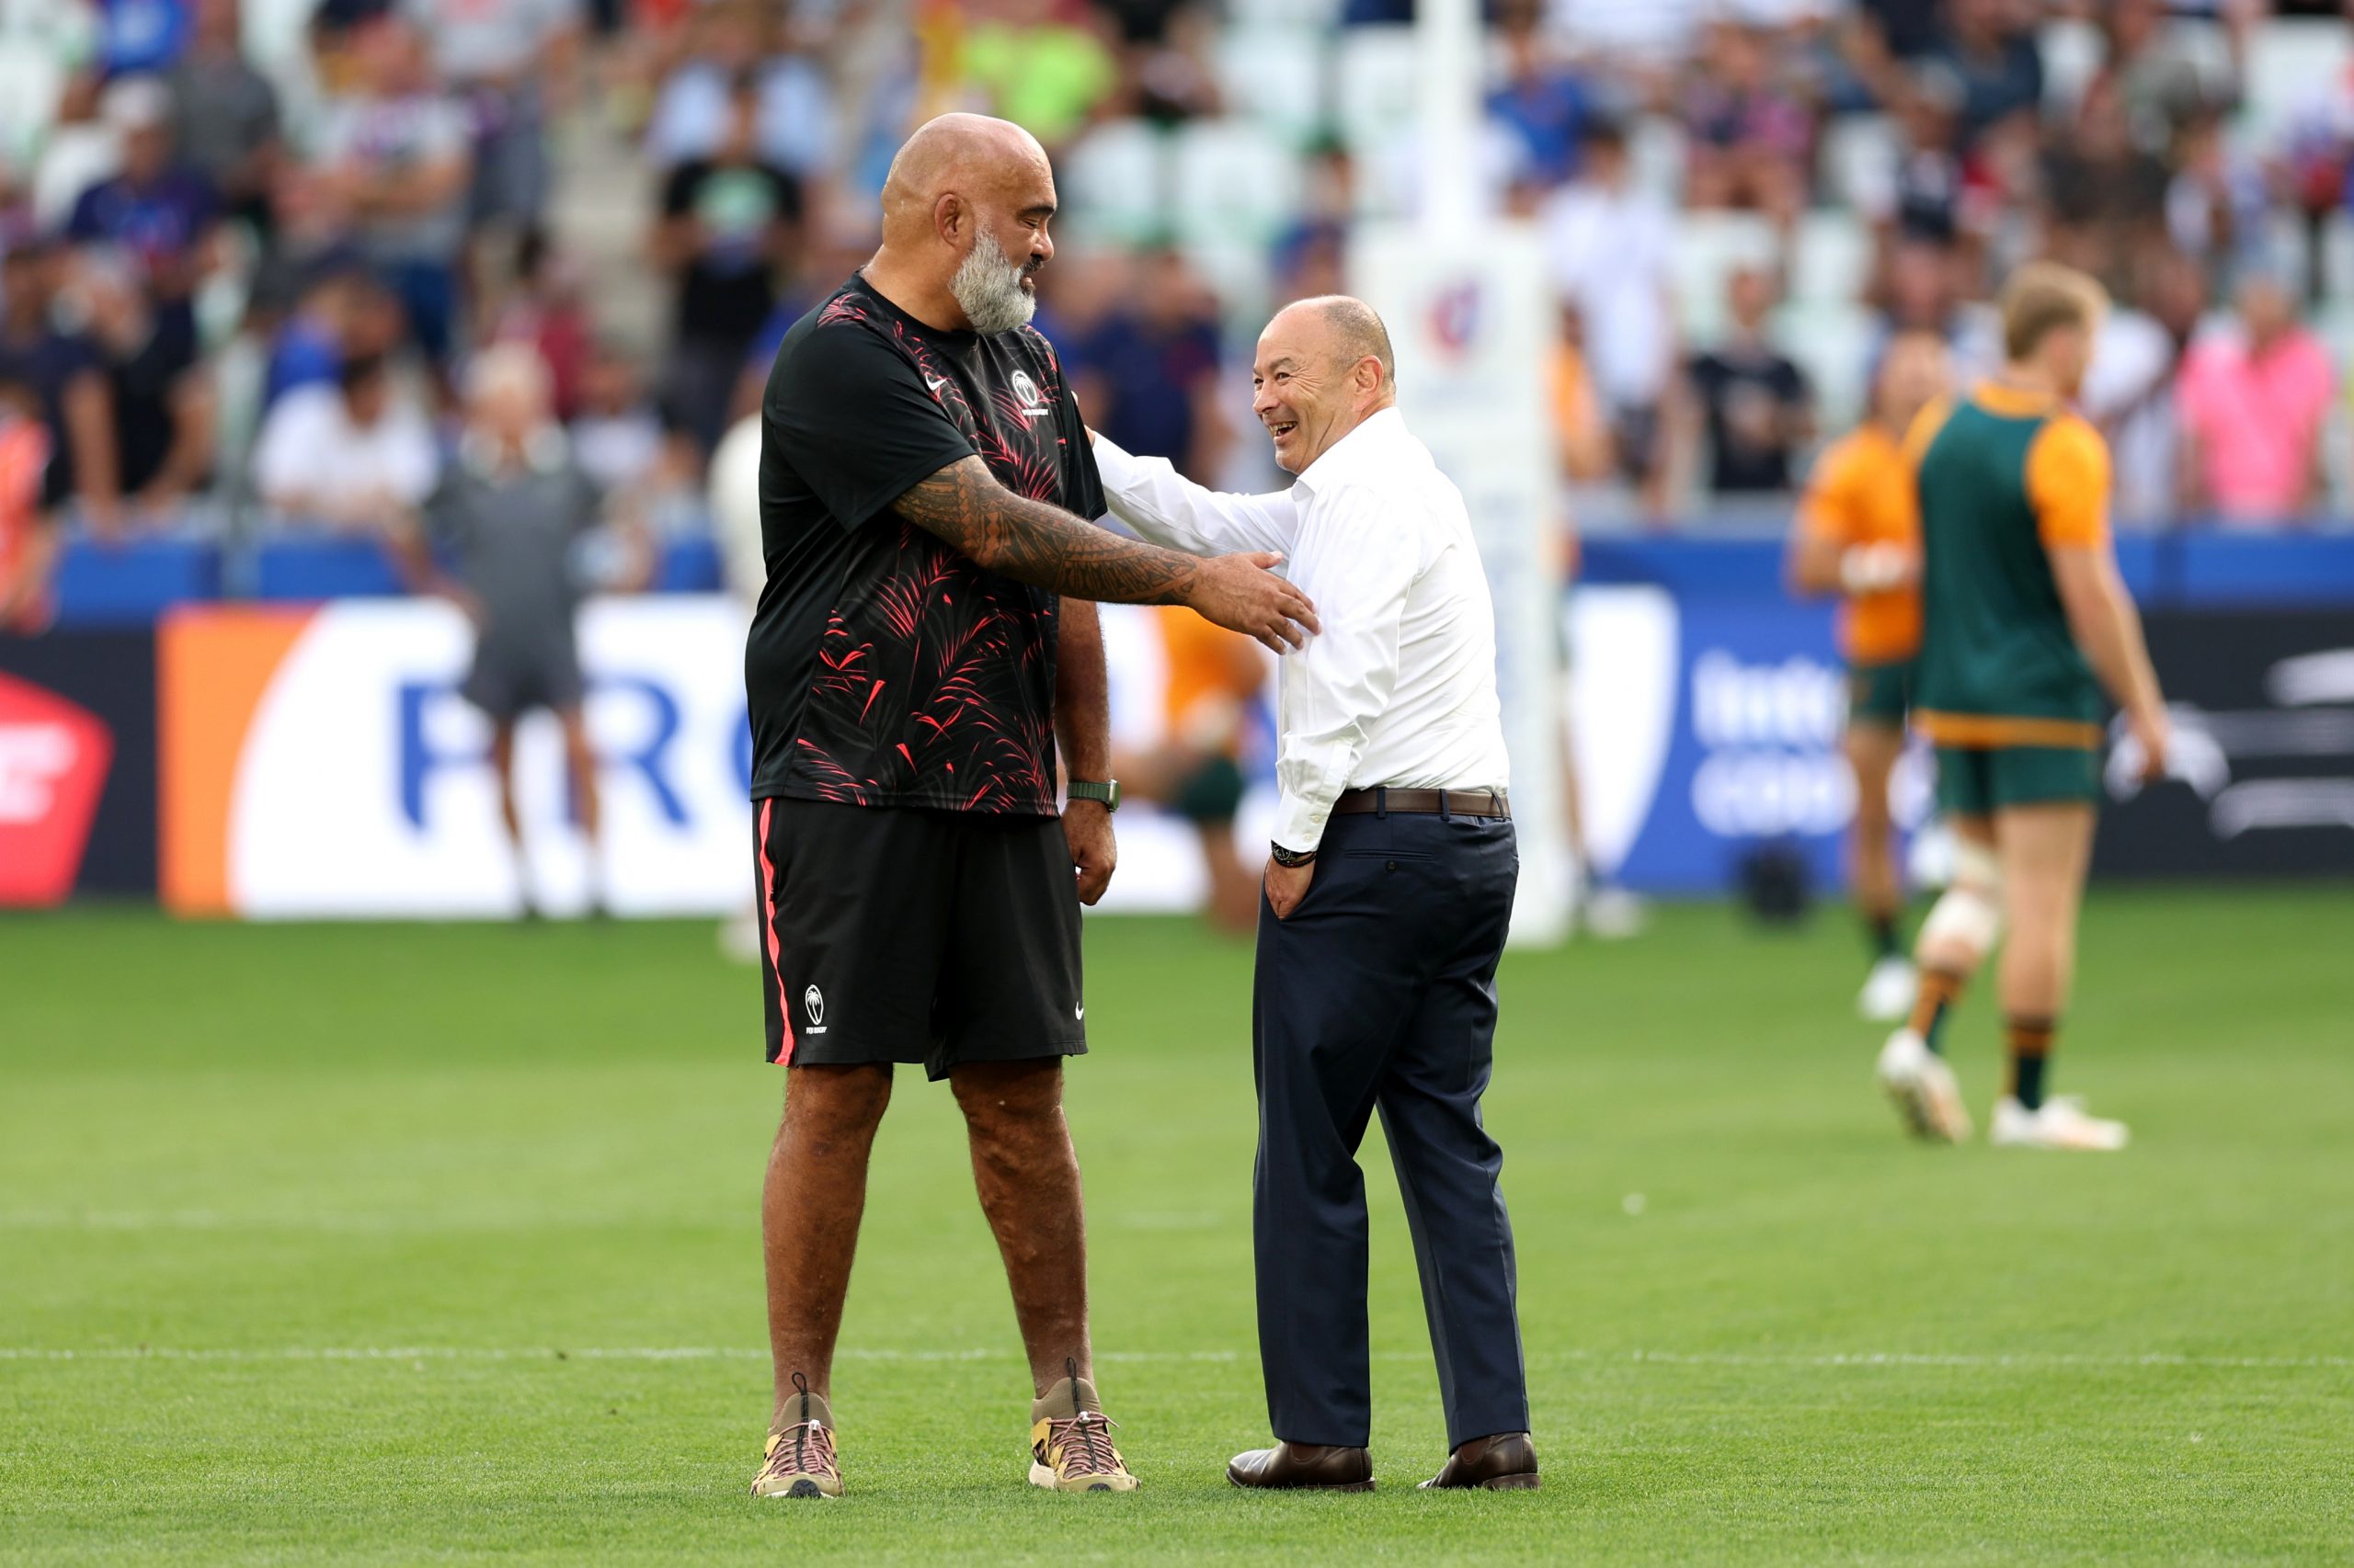
[[[838,1349],[843,1361],[1019,1361],[1010,1349]],[[1245,1351],[1097,1351],[1111,1363],[1231,1363]],[[1375,1351],[1375,1361],[1429,1361],[1427,1351]],[[47,1349],[38,1344],[0,1347],[0,1361],[767,1361],[751,1344],[624,1344],[624,1347],[499,1347],[499,1344],[275,1344],[257,1349],[205,1349],[177,1344],[99,1344],[89,1349]],[[1944,1354],[1944,1351],[1827,1351],[1827,1354],[1751,1354],[1751,1351],[1540,1351],[1532,1366],[1568,1361],[1608,1366],[1754,1366],[1754,1368],[1980,1368],[1980,1370],[2133,1370],[2133,1368],[2213,1368],[2213,1370],[2319,1370],[2354,1368],[2354,1356],[2185,1356],[2147,1351],[2140,1356],[2097,1356],[2067,1351],[2017,1354]]]

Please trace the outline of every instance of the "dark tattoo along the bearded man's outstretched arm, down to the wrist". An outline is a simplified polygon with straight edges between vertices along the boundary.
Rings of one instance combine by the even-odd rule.
[[[1071,598],[1182,605],[1201,572],[1191,556],[1123,539],[1062,506],[1015,494],[979,457],[963,457],[918,483],[892,511],[991,572]]]

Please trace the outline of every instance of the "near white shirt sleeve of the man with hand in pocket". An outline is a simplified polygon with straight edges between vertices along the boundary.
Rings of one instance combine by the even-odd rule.
[[[1309,852],[1398,685],[1398,626],[1422,572],[1419,530],[1396,499],[1363,485],[1318,494],[1299,513],[1292,582],[1323,631],[1283,657],[1285,725],[1276,753],[1276,843]]]

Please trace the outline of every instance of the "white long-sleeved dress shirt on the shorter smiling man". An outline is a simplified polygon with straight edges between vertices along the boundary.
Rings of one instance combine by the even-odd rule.
[[[1276,685],[1276,843],[1314,850],[1344,789],[1504,789],[1495,610],[1464,499],[1398,410],[1372,414],[1288,492],[1222,494],[1102,436],[1111,516],[1193,556],[1281,551],[1323,631]]]

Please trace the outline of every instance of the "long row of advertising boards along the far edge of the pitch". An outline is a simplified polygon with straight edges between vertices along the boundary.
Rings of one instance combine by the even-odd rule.
[[[80,612],[0,638],[0,904],[87,892],[264,918],[516,911],[485,730],[454,690],[464,619],[393,596],[370,549],[266,546],[242,563],[252,598],[217,600],[240,570],[205,546],[78,546],[64,586]],[[2112,772],[2095,871],[2354,873],[2354,537],[2126,539],[2121,558],[2182,742],[2166,784]],[[716,565],[673,546],[664,577],[709,584]],[[742,614],[718,593],[600,598],[584,614],[605,758],[598,881],[624,913],[723,913],[746,895]],[[1841,881],[1855,805],[1841,666],[1827,607],[1784,596],[1775,542],[1596,539],[1563,631],[1605,869],[1636,890],[1718,895],[1780,848],[1817,888]],[[1106,610],[1106,647],[1116,730],[1149,744],[1151,617]],[[577,904],[588,866],[551,727],[527,725],[520,751],[530,881],[546,904]],[[1269,803],[1262,777],[1241,843],[1264,838]],[[1916,749],[1893,805],[1919,826],[1928,803]],[[1137,803],[1121,841],[1109,909],[1201,899],[1182,824]]]

